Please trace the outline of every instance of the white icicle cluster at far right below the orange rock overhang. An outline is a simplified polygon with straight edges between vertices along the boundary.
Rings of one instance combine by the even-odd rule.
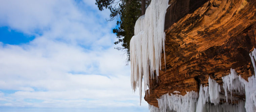
[[[241,76],[237,76],[237,73],[234,69],[230,69],[231,73],[227,76],[222,77],[222,81],[226,98],[231,98],[232,100],[232,92],[235,92],[235,94],[245,94],[246,111],[256,112],[256,49],[254,48],[249,55],[252,60],[254,75],[248,78],[248,82]],[[230,96],[228,95],[228,92],[230,92]]]

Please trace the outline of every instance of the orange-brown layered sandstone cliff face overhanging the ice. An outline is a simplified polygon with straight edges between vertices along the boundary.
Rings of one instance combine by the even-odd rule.
[[[166,62],[162,52],[159,77],[150,77],[144,97],[150,105],[158,107],[157,99],[174,91],[199,93],[200,85],[208,86],[209,76],[222,85],[221,77],[230,68],[245,80],[254,74],[249,53],[256,48],[256,0],[170,0],[169,4]],[[244,95],[233,96],[245,100]]]

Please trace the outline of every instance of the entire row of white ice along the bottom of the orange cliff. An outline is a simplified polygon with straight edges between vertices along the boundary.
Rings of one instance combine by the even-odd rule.
[[[252,64],[256,69],[256,49],[250,53]],[[255,73],[254,73],[255,74]],[[256,77],[248,78],[248,81],[238,76],[234,69],[230,69],[227,76],[222,77],[225,96],[221,92],[220,85],[209,77],[209,87],[202,85],[197,92],[187,92],[185,96],[166,94],[158,100],[159,108],[150,105],[151,112],[256,112]],[[175,92],[178,93],[178,92]],[[246,101],[235,99],[232,95],[246,95]],[[220,104],[220,99],[226,103]],[[236,102],[236,105],[227,102]]]

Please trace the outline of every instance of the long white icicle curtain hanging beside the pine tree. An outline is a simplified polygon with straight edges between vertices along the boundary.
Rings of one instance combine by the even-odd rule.
[[[144,92],[149,84],[149,74],[161,70],[162,48],[164,49],[164,20],[169,0],[151,0],[145,15],[136,21],[134,36],[130,41],[131,85],[133,91],[139,87],[141,102],[142,77]]]

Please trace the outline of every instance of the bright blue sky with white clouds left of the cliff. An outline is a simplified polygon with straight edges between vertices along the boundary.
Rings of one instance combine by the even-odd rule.
[[[94,0],[0,1],[0,111],[148,111]]]

